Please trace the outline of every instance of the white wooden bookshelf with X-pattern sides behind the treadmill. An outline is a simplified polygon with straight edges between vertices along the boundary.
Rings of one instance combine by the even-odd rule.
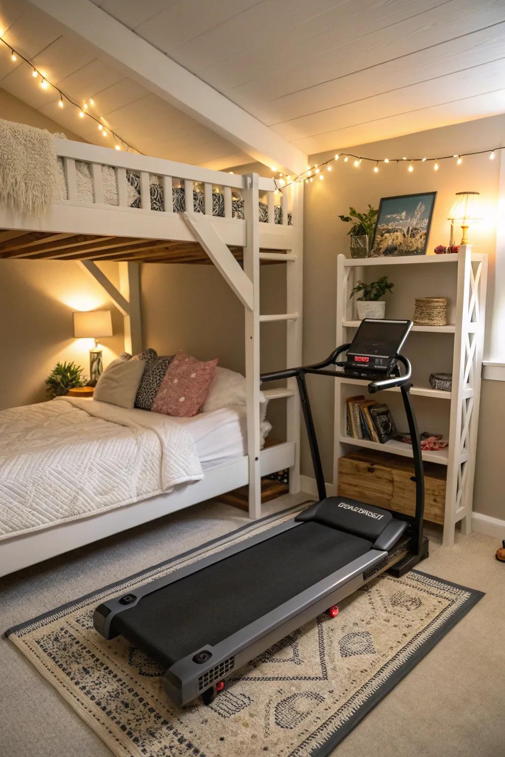
[[[472,492],[475,473],[475,448],[479,425],[482,349],[484,344],[485,298],[488,260],[472,252],[470,245],[459,254],[413,257],[348,258],[338,255],[336,344],[351,341],[360,325],[351,289],[358,279],[373,280],[387,275],[394,293],[386,295],[386,318],[413,318],[416,297],[447,297],[447,326],[413,326],[405,344],[405,354],[413,364],[410,393],[416,410],[419,431],[443,433],[449,446],[445,450],[424,451],[422,459],[447,466],[444,514],[444,544],[454,544],[454,530],[461,521],[463,533],[472,528]],[[452,372],[452,391],[429,386],[432,372]],[[412,457],[408,444],[388,441],[376,444],[353,439],[346,432],[346,398],[365,394],[368,382],[351,382],[345,377],[335,381],[335,488],[338,489],[338,458],[356,447]],[[362,385],[357,388],[357,385]],[[391,407],[397,428],[407,428],[402,418],[398,388],[388,389],[377,401]],[[386,398],[389,394],[389,398]],[[390,401],[391,400],[391,401]],[[403,424],[403,425],[402,425]]]

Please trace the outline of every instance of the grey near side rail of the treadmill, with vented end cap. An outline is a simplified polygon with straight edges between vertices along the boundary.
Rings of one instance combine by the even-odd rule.
[[[363,572],[387,555],[387,552],[369,550],[216,646],[207,644],[193,650],[164,674],[164,689],[170,699],[178,706],[191,702],[233,669],[241,668],[291,631],[354,593],[365,583]],[[206,664],[201,665],[193,658],[203,650],[212,655]]]

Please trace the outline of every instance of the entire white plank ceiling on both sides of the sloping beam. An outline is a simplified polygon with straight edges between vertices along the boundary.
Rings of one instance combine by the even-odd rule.
[[[505,111],[505,0],[93,2],[307,154]],[[142,152],[249,162],[24,0],[0,0],[0,29]],[[99,141],[5,50],[0,87]]]

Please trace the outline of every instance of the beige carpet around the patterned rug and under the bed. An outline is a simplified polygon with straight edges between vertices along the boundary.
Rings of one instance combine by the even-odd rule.
[[[285,497],[267,510],[305,498]],[[246,522],[232,507],[204,503],[3,578],[2,628]],[[337,757],[367,754],[372,743],[376,754],[387,757],[503,752],[499,690],[505,669],[505,568],[494,560],[496,547],[491,537],[471,534],[458,536],[456,546],[445,549],[435,535],[423,570],[482,589],[486,596],[338,746]],[[110,757],[108,747],[5,638],[0,639],[0,669],[2,757]]]

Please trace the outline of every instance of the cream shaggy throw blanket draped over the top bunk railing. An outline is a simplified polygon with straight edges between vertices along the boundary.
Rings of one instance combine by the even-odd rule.
[[[45,129],[0,119],[0,207],[44,213],[57,185],[52,135]]]

